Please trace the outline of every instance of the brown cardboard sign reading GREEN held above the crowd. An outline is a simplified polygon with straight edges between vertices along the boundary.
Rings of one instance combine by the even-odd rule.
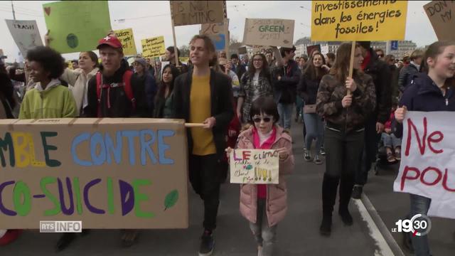
[[[243,43],[248,46],[292,47],[294,20],[246,18]]]

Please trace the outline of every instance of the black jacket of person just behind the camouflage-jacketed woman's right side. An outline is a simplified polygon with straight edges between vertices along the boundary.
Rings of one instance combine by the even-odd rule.
[[[376,122],[385,124],[390,118],[392,107],[392,73],[388,65],[378,59],[373,49],[370,49],[370,63],[363,70],[373,78],[376,89],[376,108],[373,115]]]

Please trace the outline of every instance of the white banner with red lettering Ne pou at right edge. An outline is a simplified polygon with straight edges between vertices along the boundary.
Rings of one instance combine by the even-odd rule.
[[[432,198],[428,215],[455,218],[453,112],[407,112],[397,192]]]

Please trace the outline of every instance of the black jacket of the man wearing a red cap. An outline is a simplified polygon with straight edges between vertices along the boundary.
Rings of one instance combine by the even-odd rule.
[[[103,82],[111,84],[114,82],[123,82],[123,74],[128,70],[128,63],[122,60],[120,68],[112,75],[112,77],[105,77],[103,75]],[[100,68],[102,71],[102,67]],[[136,107],[133,110],[132,102],[128,99],[124,92],[124,87],[111,87],[108,93],[107,88],[102,89],[101,94],[101,116],[100,117],[148,117],[148,107],[146,105],[146,94],[144,85],[137,82],[132,77],[131,86],[133,90],[134,99],[136,100]],[[109,94],[110,108],[108,107],[107,95]],[[84,109],[84,117],[98,117],[98,97],[97,97],[97,78],[96,75],[90,79],[87,88],[87,101],[88,105]]]

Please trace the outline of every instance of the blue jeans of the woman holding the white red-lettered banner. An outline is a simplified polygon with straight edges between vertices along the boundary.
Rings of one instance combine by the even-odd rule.
[[[414,194],[410,194],[411,199],[411,212],[408,216],[408,219],[412,218],[412,216],[416,214],[428,214],[428,209],[430,203],[432,203],[432,199],[426,198],[424,196],[418,196]],[[419,220],[419,218],[417,219]],[[417,230],[418,232],[422,232],[423,230]],[[428,237],[427,235],[423,236],[414,236],[409,233],[411,240],[412,240],[412,247],[414,247],[414,255],[415,256],[429,256],[429,244],[428,244]]]

